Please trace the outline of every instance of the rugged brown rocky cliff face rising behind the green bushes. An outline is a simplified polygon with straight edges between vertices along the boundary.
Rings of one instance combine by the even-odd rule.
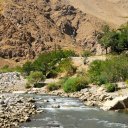
[[[5,0],[0,6],[0,57],[33,59],[56,47],[97,53],[104,23],[60,0]]]

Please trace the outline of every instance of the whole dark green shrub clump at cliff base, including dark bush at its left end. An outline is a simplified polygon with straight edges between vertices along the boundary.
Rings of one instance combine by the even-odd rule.
[[[45,52],[40,54],[34,62],[26,62],[23,65],[23,71],[27,75],[29,75],[31,71],[40,71],[46,77],[56,76],[56,65],[60,63],[62,58],[69,58],[71,56],[76,56],[76,54],[70,50]]]

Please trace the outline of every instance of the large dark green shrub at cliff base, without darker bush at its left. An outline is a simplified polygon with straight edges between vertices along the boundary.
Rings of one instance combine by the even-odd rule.
[[[61,62],[62,58],[75,56],[75,53],[70,50],[58,50],[48,53],[42,53],[33,62],[34,70],[41,71],[46,77],[52,70],[56,69],[56,65]]]

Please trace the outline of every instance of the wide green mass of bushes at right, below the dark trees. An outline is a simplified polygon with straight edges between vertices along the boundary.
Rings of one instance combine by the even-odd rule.
[[[106,61],[96,60],[90,64],[88,75],[90,81],[98,85],[125,81],[128,78],[128,57],[120,55]]]

